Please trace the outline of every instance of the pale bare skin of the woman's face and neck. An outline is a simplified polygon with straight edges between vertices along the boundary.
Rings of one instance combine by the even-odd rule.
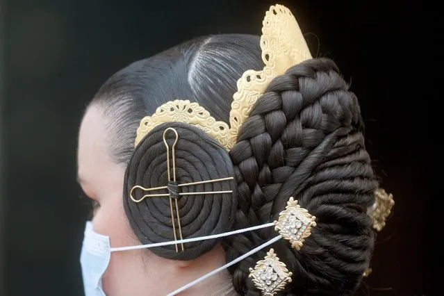
[[[125,165],[110,158],[111,137],[107,134],[108,119],[101,109],[90,106],[79,132],[79,184],[93,199],[93,229],[110,237],[111,247],[140,245],[126,219],[122,202]],[[224,265],[222,247],[194,261],[173,261],[156,256],[147,249],[111,253],[103,277],[107,296],[167,295],[173,290]],[[217,287],[229,281],[227,272],[220,272],[179,295],[215,295]],[[220,295],[220,290],[217,295]]]

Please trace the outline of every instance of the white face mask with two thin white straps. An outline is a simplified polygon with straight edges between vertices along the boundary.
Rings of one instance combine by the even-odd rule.
[[[245,229],[239,229],[236,231],[230,231],[220,234],[215,234],[212,236],[202,236],[199,238],[188,238],[186,240],[177,240],[177,241],[171,241],[171,242],[158,242],[150,245],[137,245],[137,246],[131,246],[131,247],[115,247],[112,248],[110,246],[110,238],[109,236],[104,236],[99,233],[94,232],[92,229],[92,222],[88,221],[85,225],[85,238],[83,239],[83,246],[81,250],[80,255],[80,263],[81,263],[81,269],[82,269],[82,277],[83,277],[83,288],[85,290],[85,296],[106,296],[104,293],[104,290],[102,288],[101,279],[104,275],[104,272],[106,268],[108,268],[108,264],[110,263],[111,258],[111,252],[120,252],[120,251],[127,251],[132,249],[147,249],[150,247],[161,247],[165,245],[175,245],[178,243],[186,243],[186,242],[195,242],[199,240],[210,240],[214,238],[222,238],[224,236],[231,236],[233,234],[247,232],[247,231],[253,231],[256,229],[261,229],[265,227],[274,227],[274,223],[267,223],[255,227],[249,227]],[[212,272],[209,272],[208,274],[205,274],[202,277],[199,277],[199,279],[196,279],[195,281],[192,281],[191,283],[188,283],[187,285],[175,290],[174,292],[168,294],[168,296],[176,295],[177,293],[182,292],[183,290],[190,288],[191,286],[194,286],[196,283],[199,283],[200,281],[203,281],[204,279],[211,277],[213,274],[216,274],[217,272],[220,272],[224,270],[225,268],[228,268],[229,266],[238,263],[239,261],[242,261],[244,258],[247,258],[248,256],[251,256],[252,254],[258,252],[260,249],[263,249],[264,247],[267,247],[268,245],[271,245],[273,242],[276,242],[279,240],[281,236],[277,236],[275,238],[272,238],[272,240],[269,240],[268,242],[265,242],[263,245],[260,245],[259,247],[256,247],[255,249],[252,249],[247,254],[244,254],[240,256],[239,258],[236,258],[235,260],[227,263],[226,265],[217,268],[216,270],[213,270]]]

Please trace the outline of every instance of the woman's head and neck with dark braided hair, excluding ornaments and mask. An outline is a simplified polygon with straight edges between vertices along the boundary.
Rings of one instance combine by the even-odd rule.
[[[108,79],[88,106],[79,136],[81,185],[100,204],[94,230],[110,236],[113,247],[172,239],[168,199],[132,204],[128,195],[134,185],[166,185],[162,135],[174,127],[183,139],[176,147],[178,181],[234,176],[193,190],[231,194],[179,200],[185,238],[272,222],[293,196],[318,226],[299,251],[286,240],[272,245],[293,272],[287,295],[344,295],[356,288],[370,260],[374,238],[365,211],[377,183],[358,102],[331,60],[306,60],[273,79],[229,153],[201,129],[177,122],[157,126],[134,148],[140,120],[174,99],[195,101],[215,120],[229,122],[238,79],[262,67],[258,37],[215,35],[133,63]],[[165,295],[276,235],[263,229],[222,243],[196,242],[179,253],[174,246],[113,253],[104,289],[110,296]],[[231,282],[241,295],[258,295],[248,270],[266,251],[233,265],[231,275],[195,287],[195,295],[224,295],[217,289]]]

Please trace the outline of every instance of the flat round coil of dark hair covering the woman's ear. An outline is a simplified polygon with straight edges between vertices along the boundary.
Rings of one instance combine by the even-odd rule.
[[[234,176],[233,164],[227,151],[204,131],[190,124],[168,122],[157,126],[135,148],[126,167],[124,179],[124,209],[135,235],[142,244],[174,240],[169,197],[146,197],[136,203],[129,197],[133,186],[156,188],[168,186],[167,151],[163,142],[165,129],[172,127],[179,134],[175,146],[176,182],[192,183]],[[166,133],[170,147],[174,133]],[[171,170],[171,175],[173,170]],[[232,193],[208,195],[181,195],[178,200],[183,238],[195,238],[229,231],[237,208],[236,180],[204,183],[180,187],[181,192],[211,192],[233,190]],[[167,190],[134,190],[133,197],[142,199],[147,194],[165,194]],[[174,213],[176,212],[173,202]],[[179,229],[176,234],[179,240]],[[192,260],[213,249],[219,240],[202,240],[184,244],[185,250],[176,252],[174,245],[154,247],[154,254],[163,258]]]

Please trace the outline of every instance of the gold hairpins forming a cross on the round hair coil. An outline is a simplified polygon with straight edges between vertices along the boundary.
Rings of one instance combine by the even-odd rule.
[[[174,133],[174,135],[176,136],[176,138],[174,139],[174,143],[172,145],[172,149],[171,149],[172,150],[172,174],[171,174],[171,170],[170,170],[170,146],[168,145],[167,139],[165,138],[165,135],[168,131],[172,131]],[[180,236],[181,240],[183,240],[181,217],[179,215],[179,204],[177,202],[179,197],[181,197],[182,195],[214,195],[214,194],[221,194],[221,193],[232,193],[233,190],[208,191],[208,192],[179,192],[179,188],[183,187],[183,186],[192,186],[192,185],[198,185],[198,184],[204,184],[204,183],[227,181],[227,180],[232,180],[234,178],[232,176],[229,176],[227,178],[221,178],[221,179],[213,179],[213,180],[206,180],[206,181],[197,181],[197,182],[192,182],[192,183],[177,184],[176,183],[176,150],[175,150],[175,148],[176,148],[176,144],[177,144],[178,140],[179,140],[179,134],[177,133],[176,129],[173,129],[172,127],[165,129],[165,131],[163,132],[163,143],[165,144],[165,147],[167,149],[168,185],[156,187],[156,188],[144,188],[142,186],[136,185],[136,186],[133,186],[133,188],[131,188],[131,190],[129,192],[129,197],[135,203],[142,202],[142,200],[144,200],[147,197],[170,197],[171,221],[172,221],[172,227],[173,227],[173,233],[174,233],[174,240],[177,240],[176,223],[174,221],[174,211],[173,211],[173,204],[172,204],[172,200],[174,199],[175,206],[176,206],[177,225],[179,228],[179,236]],[[148,195],[144,195],[140,199],[135,199],[133,197],[133,191],[135,189],[140,189],[143,191],[167,189],[169,191],[169,193],[152,194],[152,195],[148,194]],[[181,247],[182,247],[182,251],[184,251],[185,248],[183,247],[183,243],[181,243]],[[176,252],[179,252],[177,245],[176,245]]]

